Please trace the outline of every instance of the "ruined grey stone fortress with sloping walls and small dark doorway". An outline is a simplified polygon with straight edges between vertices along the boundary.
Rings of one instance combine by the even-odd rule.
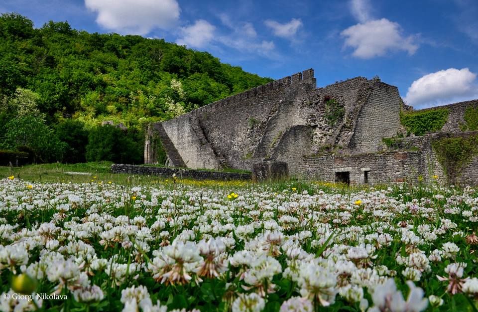
[[[443,127],[414,136],[401,124],[412,109],[396,87],[357,77],[317,88],[308,69],[150,125],[144,160],[157,162],[160,145],[178,167],[250,170],[273,159],[287,162],[291,175],[325,181],[446,180],[448,173],[477,184],[478,157],[447,172],[433,149],[436,140],[477,136],[463,127],[469,107],[478,100],[442,107]]]

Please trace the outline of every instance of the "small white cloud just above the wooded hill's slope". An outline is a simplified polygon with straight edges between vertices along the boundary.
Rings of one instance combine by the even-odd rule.
[[[182,37],[176,40],[177,44],[185,44],[191,48],[203,48],[214,39],[216,27],[204,19],[198,19],[194,24],[181,27]]]

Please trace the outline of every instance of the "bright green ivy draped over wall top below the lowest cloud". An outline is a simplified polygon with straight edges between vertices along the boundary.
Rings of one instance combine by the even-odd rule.
[[[448,109],[437,108],[426,111],[401,112],[400,122],[408,133],[423,136],[442,129],[448,120]]]

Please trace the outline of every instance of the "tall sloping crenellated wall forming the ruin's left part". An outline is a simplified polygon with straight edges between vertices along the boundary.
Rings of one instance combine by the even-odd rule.
[[[188,167],[249,169],[251,158],[271,154],[281,132],[305,122],[294,99],[315,88],[310,69],[161,124]]]

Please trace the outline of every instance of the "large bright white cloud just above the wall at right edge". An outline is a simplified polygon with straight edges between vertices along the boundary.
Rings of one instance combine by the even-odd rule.
[[[477,74],[468,68],[449,68],[415,80],[408,88],[405,101],[424,108],[477,97]]]

